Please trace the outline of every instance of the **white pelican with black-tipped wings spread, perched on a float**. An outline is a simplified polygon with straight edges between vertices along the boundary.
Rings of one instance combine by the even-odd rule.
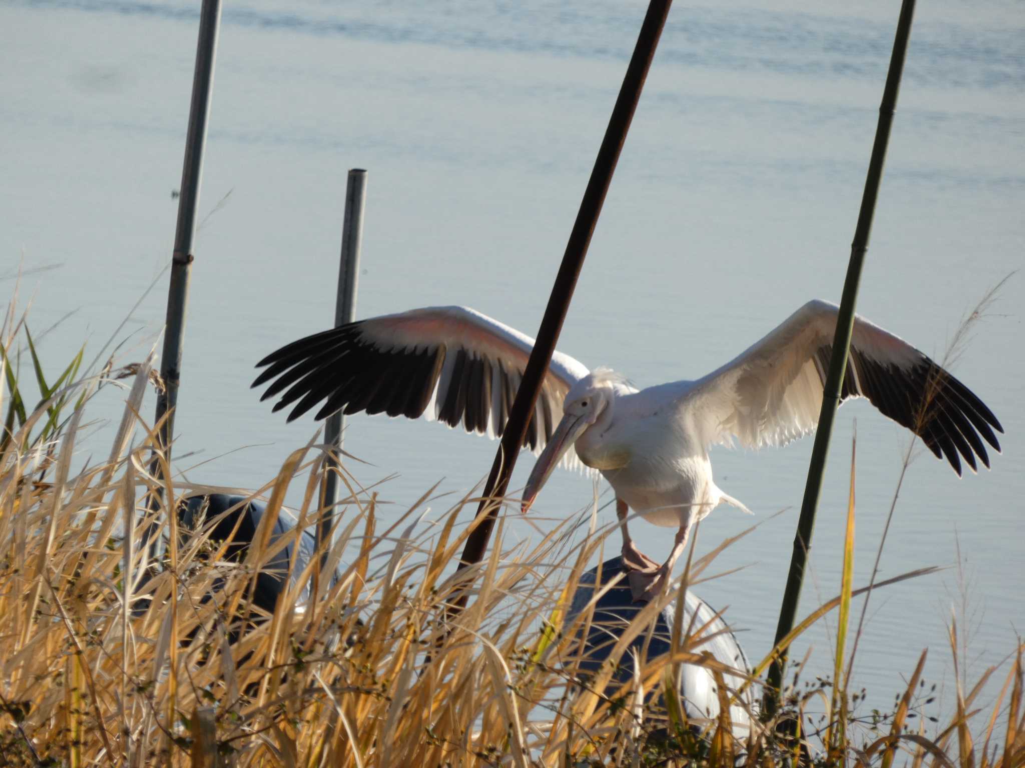
[[[525,439],[539,454],[522,509],[530,509],[560,463],[601,472],[616,495],[623,561],[637,600],[668,582],[694,523],[719,504],[746,510],[712,480],[716,443],[783,445],[815,430],[837,307],[810,301],[730,362],[694,381],[637,389],[606,368],[593,371],[557,351]],[[321,404],[316,418],[386,413],[424,416],[500,436],[534,340],[467,307],[427,307],[357,321],[308,336],[257,364],[253,382],[273,381],[261,399],[292,406],[288,421]],[[989,467],[983,439],[997,453],[992,412],[957,379],[907,342],[856,317],[840,400],[866,397],[912,430],[958,476],[961,460]],[[293,406],[294,403],[294,406]],[[575,456],[570,449],[575,449]],[[633,543],[632,509],[676,528],[657,565]]]

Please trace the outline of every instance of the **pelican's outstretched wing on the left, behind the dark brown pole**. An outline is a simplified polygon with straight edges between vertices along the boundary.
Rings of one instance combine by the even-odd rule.
[[[343,410],[460,424],[501,436],[534,340],[467,307],[426,307],[357,321],[299,339],[257,364],[253,382],[273,380],[260,399],[288,420],[320,406],[317,419]],[[562,419],[570,387],[588,373],[562,352],[551,357],[524,446],[544,447]],[[294,403],[294,404],[293,404]]]

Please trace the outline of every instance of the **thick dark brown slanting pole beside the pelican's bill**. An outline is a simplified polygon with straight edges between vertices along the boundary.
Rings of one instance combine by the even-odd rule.
[[[619,96],[612,110],[609,126],[605,130],[605,137],[598,151],[590,179],[584,190],[583,200],[580,202],[580,210],[577,212],[576,221],[566,245],[562,266],[559,268],[559,274],[556,276],[556,284],[551,289],[551,296],[548,298],[541,327],[537,332],[537,341],[534,342],[534,349],[527,362],[527,369],[524,371],[523,381],[517,390],[508,422],[505,424],[501,444],[498,446],[494,464],[491,466],[491,474],[484,487],[484,499],[477,509],[479,524],[467,538],[462,552],[462,559],[459,562],[460,569],[481,561],[488,546],[488,540],[491,538],[495,516],[508,488],[517,455],[523,445],[527,427],[534,414],[541,381],[547,371],[551,353],[556,349],[559,333],[566,319],[570,300],[573,298],[573,289],[576,287],[584,257],[587,255],[587,247],[594,233],[598,217],[602,213],[602,204],[605,203],[605,196],[612,183],[612,174],[616,170],[616,163],[619,161],[623,143],[626,141],[626,133],[629,131],[630,121],[633,119],[633,113],[641,98],[641,91],[644,89],[645,79],[648,77],[648,70],[651,68],[655,48],[658,46],[658,39],[662,34],[662,28],[665,26],[671,4],[672,0],[651,0],[648,6],[648,13],[641,26],[641,34],[638,36],[633,55],[626,68],[626,76],[619,89]],[[465,604],[465,593],[456,604],[459,607]]]

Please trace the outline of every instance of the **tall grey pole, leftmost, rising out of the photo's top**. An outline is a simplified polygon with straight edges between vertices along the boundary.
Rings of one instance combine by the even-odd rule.
[[[196,44],[196,70],[193,75],[192,104],[189,110],[189,132],[186,137],[186,156],[181,169],[181,195],[178,198],[177,228],[174,232],[174,253],[171,257],[171,280],[167,292],[167,321],[164,328],[164,350],[160,358],[160,378],[164,389],[157,395],[156,423],[166,420],[158,432],[160,447],[169,462],[171,441],[174,436],[174,408],[178,399],[181,379],[181,345],[186,331],[186,306],[189,301],[189,272],[193,259],[193,240],[196,236],[196,211],[199,207],[199,187],[203,175],[203,147],[206,143],[206,125],[213,93],[213,65],[217,53],[217,34],[220,27],[220,0],[203,0],[199,18],[199,40]],[[151,471],[158,480],[163,479],[160,462],[154,459]],[[158,505],[159,490],[151,500],[151,509]],[[142,544],[152,536],[150,526],[142,532]]]

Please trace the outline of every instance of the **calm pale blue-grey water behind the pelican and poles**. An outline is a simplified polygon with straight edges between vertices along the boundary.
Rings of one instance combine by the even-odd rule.
[[[83,338],[98,351],[158,278],[118,334],[132,334],[122,359],[141,357],[163,322],[197,8],[0,5],[0,275],[9,294],[19,259],[60,265],[23,285],[34,328],[76,310],[45,340],[52,367]],[[643,11],[227,4],[177,421],[180,451],[199,452],[190,479],[260,484],[313,434],[310,420],[272,416],[248,385],[259,357],[333,318],[347,168],[370,170],[359,314],[459,303],[534,332]],[[640,386],[694,378],[807,299],[836,299],[896,15],[896,2],[843,13],[810,2],[674,7],[560,347]],[[1010,0],[945,1],[922,4],[912,34],[859,311],[936,356],[1025,262],[1023,27]],[[954,368],[1002,421],[1003,456],[961,480],[921,456],[901,490],[884,575],[959,568],[873,598],[856,668],[873,706],[892,701],[928,646],[943,697],[927,714],[949,711],[945,624],[962,592],[972,678],[1025,626],[1023,306],[1019,274]],[[111,390],[92,415],[119,408]],[[866,403],[842,411],[805,609],[837,589],[855,422],[859,583],[908,444]],[[102,451],[102,433],[93,444]],[[365,483],[398,474],[381,488],[395,509],[440,478],[465,493],[494,450],[382,417],[351,420],[345,446],[369,463],[357,470]],[[805,440],[713,454],[716,482],[763,525],[716,563],[743,570],[698,591],[729,606],[751,657],[775,629],[810,451]],[[530,466],[525,457],[514,484]],[[590,496],[586,478],[554,477],[537,514],[568,514]],[[720,510],[699,551],[751,522]],[[664,531],[633,529],[665,556]],[[520,520],[511,531],[538,536]],[[813,674],[831,666],[829,635],[821,627],[794,649],[814,646]]]

